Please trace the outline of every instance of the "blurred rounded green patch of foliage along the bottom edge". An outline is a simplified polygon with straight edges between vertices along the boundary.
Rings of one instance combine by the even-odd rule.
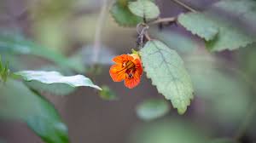
[[[207,133],[182,118],[145,123],[134,133],[134,143],[208,143]]]

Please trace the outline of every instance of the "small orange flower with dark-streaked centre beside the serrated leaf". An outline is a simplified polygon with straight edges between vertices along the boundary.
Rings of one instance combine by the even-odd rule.
[[[140,83],[143,66],[138,54],[122,54],[113,58],[115,65],[109,74],[114,82],[125,80],[125,87],[132,89]]]

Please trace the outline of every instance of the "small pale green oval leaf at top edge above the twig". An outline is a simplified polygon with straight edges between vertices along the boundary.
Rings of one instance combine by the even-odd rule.
[[[155,19],[160,15],[160,9],[149,0],[137,0],[128,4],[132,14],[143,17],[147,20]]]

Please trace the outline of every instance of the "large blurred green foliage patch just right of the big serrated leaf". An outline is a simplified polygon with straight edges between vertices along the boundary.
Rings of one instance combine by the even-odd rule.
[[[237,72],[226,64],[222,66],[223,61],[218,60],[214,61],[203,54],[196,54],[186,60],[195,95],[205,101],[207,106],[201,109],[214,122],[240,123],[251,99],[249,85],[243,81],[239,70]]]

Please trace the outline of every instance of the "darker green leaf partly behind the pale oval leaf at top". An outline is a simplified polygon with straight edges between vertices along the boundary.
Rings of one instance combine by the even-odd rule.
[[[143,18],[131,13],[127,3],[124,5],[119,2],[113,3],[110,13],[119,26],[137,26],[143,21]]]

